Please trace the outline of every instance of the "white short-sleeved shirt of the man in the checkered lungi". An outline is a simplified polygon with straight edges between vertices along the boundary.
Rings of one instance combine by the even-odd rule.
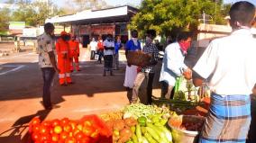
[[[256,83],[256,40],[250,30],[213,40],[193,68],[215,94],[251,94]]]

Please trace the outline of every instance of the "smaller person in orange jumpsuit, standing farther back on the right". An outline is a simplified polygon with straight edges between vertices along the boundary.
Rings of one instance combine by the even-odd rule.
[[[73,60],[75,60],[76,70],[80,71],[79,61],[78,61],[79,42],[78,42],[78,40],[76,40],[76,38],[77,38],[76,35],[72,35],[71,40],[69,40],[69,59],[70,59],[70,70],[71,70],[71,72],[73,72],[73,70],[74,70]]]

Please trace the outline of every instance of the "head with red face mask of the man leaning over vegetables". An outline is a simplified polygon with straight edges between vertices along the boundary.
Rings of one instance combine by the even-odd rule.
[[[183,52],[187,52],[187,49],[190,48],[191,40],[192,40],[192,33],[189,31],[181,31],[177,37],[178,44]]]

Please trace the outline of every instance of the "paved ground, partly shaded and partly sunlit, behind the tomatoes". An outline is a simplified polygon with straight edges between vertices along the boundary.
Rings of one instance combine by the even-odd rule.
[[[79,119],[89,113],[118,110],[128,103],[123,87],[124,62],[119,71],[114,71],[115,76],[104,77],[103,65],[90,61],[86,49],[81,51],[82,71],[73,73],[74,85],[59,86],[56,75],[51,100],[59,108],[48,112],[41,105],[38,55],[25,52],[0,58],[0,142],[25,142],[27,123],[34,116]],[[154,92],[159,94],[159,90]]]

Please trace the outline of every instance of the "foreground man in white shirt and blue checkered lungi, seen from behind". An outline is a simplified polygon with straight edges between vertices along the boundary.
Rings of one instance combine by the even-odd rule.
[[[200,143],[244,143],[251,123],[256,40],[250,28],[255,6],[237,2],[229,13],[232,34],[213,40],[193,68],[194,84],[201,85],[207,79],[212,92]]]

